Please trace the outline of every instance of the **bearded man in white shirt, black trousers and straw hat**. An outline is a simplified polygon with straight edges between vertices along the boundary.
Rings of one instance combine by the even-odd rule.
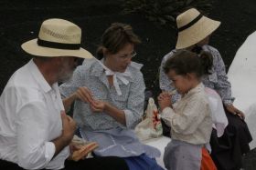
[[[22,45],[33,59],[11,76],[0,98],[3,169],[127,169],[118,157],[66,160],[76,123],[65,114],[58,82],[72,76],[78,58],[92,57],[80,40],[78,25],[55,18]]]

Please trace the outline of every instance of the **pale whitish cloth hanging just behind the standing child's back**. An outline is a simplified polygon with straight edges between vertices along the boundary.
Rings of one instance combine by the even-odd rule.
[[[217,92],[208,87],[205,88],[205,91],[208,95],[209,108],[211,110],[212,127],[217,130],[217,135],[220,137],[224,134],[224,130],[229,124],[228,118],[225,114],[221,98]]]

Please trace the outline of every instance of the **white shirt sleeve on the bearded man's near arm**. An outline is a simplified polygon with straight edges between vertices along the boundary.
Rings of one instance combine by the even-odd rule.
[[[48,142],[48,115],[42,102],[23,105],[17,116],[18,165],[25,169],[41,169],[51,161],[55,145]]]

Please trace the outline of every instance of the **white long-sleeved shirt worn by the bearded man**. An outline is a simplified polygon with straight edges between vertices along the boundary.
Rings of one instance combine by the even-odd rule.
[[[58,84],[50,87],[31,60],[10,78],[0,98],[0,159],[26,169],[59,169],[69,147],[52,158],[64,110]]]

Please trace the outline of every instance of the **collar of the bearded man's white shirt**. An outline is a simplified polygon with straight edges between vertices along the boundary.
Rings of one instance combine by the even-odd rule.
[[[52,88],[54,90],[58,88],[58,83],[53,84],[52,87],[48,85],[48,82],[46,81],[45,77],[42,75],[42,73],[38,69],[33,59],[31,59],[28,62],[28,68],[31,75],[33,75],[34,79],[37,81],[37,84],[40,85],[40,87],[44,90],[44,92],[48,93],[50,90],[52,90]]]

